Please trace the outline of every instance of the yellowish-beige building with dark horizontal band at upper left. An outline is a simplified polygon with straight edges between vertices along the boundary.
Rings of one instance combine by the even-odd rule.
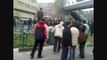
[[[36,0],[14,0],[13,5],[13,15],[15,19],[34,19],[36,17]]]

